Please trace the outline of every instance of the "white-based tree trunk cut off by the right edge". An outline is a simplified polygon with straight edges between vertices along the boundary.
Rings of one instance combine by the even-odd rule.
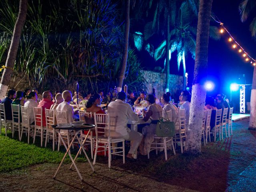
[[[249,129],[256,130],[256,66],[254,66],[252,76]]]

